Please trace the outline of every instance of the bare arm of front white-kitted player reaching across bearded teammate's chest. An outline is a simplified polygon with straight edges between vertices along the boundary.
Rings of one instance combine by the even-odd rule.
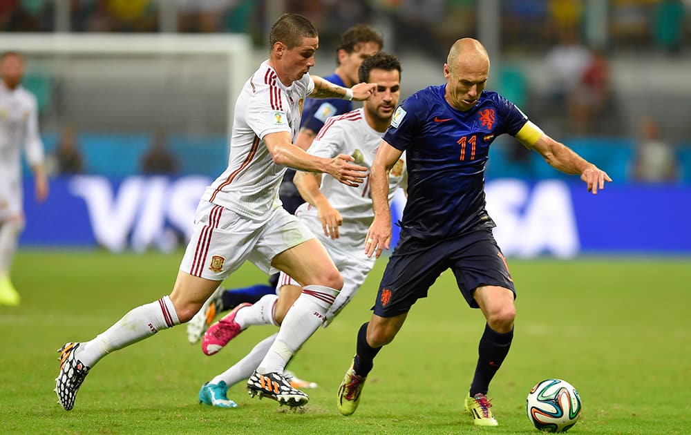
[[[367,168],[352,164],[354,159],[350,155],[341,154],[325,159],[307,153],[290,142],[290,133],[287,131],[269,133],[264,136],[264,142],[274,163],[281,166],[298,171],[328,173],[339,182],[353,187],[359,186],[367,175]]]

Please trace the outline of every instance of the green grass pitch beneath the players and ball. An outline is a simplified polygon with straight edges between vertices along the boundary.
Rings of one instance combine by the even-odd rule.
[[[337,411],[337,388],[386,260],[294,358],[290,368],[319,383],[303,413],[249,398],[244,385],[229,390],[238,409],[199,405],[200,385],[274,329],[248,329],[208,357],[187,343],[184,326],[104,358],[65,412],[52,391],[55,350],[169,293],[181,257],[21,251],[12,277],[22,304],[0,307],[0,434],[529,434],[536,429],[525,398],[550,377],[568,380],[583,398],[569,433],[691,433],[688,258],[509,259],[518,317],[511,353],[489,392],[495,428],[475,428],[462,413],[484,320],[448,271],[377,356],[358,411]],[[245,265],[225,284],[263,281]]]

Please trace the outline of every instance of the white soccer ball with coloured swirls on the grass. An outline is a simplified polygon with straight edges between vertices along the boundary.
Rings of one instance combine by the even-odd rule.
[[[546,379],[530,390],[525,400],[528,419],[545,432],[566,432],[580,417],[580,396],[561,379]]]

